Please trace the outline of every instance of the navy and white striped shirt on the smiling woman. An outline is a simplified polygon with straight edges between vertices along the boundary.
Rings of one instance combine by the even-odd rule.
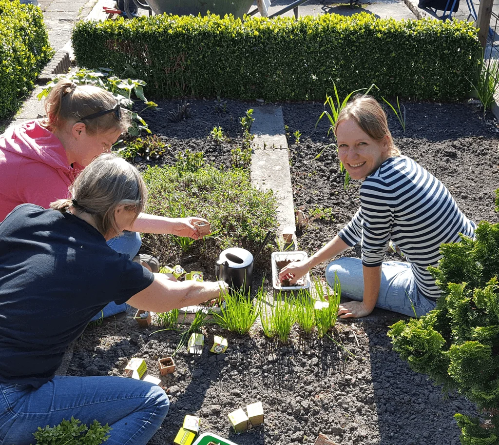
[[[435,176],[406,156],[385,160],[360,187],[360,208],[338,233],[349,246],[359,241],[362,264],[381,266],[390,240],[410,263],[418,290],[436,299],[440,289],[426,269],[437,266],[443,243],[473,237],[469,220]]]

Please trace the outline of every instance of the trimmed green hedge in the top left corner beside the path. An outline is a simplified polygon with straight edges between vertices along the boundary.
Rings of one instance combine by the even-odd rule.
[[[0,117],[17,109],[52,54],[41,9],[0,0]]]

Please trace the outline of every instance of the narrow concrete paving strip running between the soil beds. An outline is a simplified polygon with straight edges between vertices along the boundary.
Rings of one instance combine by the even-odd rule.
[[[294,233],[293,189],[282,108],[256,107],[253,118],[251,133],[255,138],[251,155],[251,183],[257,189],[274,192],[278,202],[278,235],[289,227]]]

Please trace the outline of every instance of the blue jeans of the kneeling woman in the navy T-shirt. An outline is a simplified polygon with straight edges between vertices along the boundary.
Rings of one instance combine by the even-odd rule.
[[[146,445],[170,402],[159,386],[123,377],[56,376],[38,389],[0,383],[0,445],[29,445],[38,427],[71,416],[112,428],[106,445]]]

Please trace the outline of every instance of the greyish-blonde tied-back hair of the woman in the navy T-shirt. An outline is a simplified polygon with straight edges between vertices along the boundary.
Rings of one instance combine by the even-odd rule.
[[[122,232],[114,219],[118,206],[135,210],[137,216],[147,202],[147,189],[139,171],[113,154],[95,158],[69,188],[72,199],[59,199],[50,207],[64,213],[73,207],[93,216],[102,235]]]

